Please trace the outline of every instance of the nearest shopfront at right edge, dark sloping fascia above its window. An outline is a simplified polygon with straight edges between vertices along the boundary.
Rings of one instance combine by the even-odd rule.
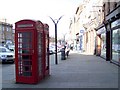
[[[120,7],[106,16],[110,28],[110,61],[120,66]]]

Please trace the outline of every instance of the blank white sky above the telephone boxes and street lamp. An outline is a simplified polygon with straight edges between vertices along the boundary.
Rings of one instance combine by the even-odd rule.
[[[0,18],[7,19],[7,23],[13,24],[22,19],[40,20],[49,25],[50,36],[54,37],[54,23],[49,18],[58,20],[57,35],[66,34],[69,31],[70,18],[83,0],[1,0]]]

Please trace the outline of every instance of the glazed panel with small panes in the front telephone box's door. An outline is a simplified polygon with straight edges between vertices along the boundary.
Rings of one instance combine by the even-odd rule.
[[[32,32],[18,33],[18,68],[20,76],[32,76]]]

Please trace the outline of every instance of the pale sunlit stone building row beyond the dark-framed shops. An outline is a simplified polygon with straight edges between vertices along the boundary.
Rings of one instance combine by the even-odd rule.
[[[104,17],[102,11],[102,0],[84,0],[75,12],[73,23],[70,24],[71,32],[74,31],[74,45],[77,50],[85,51],[89,54],[96,52],[96,30]],[[71,35],[72,35],[71,34]]]

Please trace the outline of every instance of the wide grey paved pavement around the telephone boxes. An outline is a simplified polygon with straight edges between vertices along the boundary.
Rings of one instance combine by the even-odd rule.
[[[50,57],[50,76],[38,84],[16,84],[15,66],[2,80],[2,88],[118,88],[118,66],[101,57],[70,51],[66,60],[58,64]],[[3,76],[4,78],[4,76]],[[109,89],[108,89],[109,90]]]

